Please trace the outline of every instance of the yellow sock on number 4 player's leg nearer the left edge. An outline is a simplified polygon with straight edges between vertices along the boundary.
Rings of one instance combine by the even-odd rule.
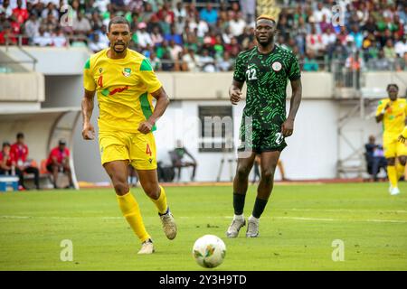
[[[128,224],[133,229],[141,242],[150,238],[146,228],[144,227],[143,219],[141,218],[140,209],[138,208],[137,200],[128,191],[123,196],[118,196],[118,207],[120,207],[123,216],[128,220]]]

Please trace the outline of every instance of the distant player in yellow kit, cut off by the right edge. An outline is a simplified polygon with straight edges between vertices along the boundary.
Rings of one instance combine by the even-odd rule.
[[[407,147],[397,141],[405,126],[407,103],[405,99],[398,98],[398,93],[397,84],[389,84],[387,86],[388,98],[380,100],[376,110],[376,122],[383,122],[383,150],[384,157],[387,159],[391,195],[400,193],[398,181],[404,175],[407,160]]]

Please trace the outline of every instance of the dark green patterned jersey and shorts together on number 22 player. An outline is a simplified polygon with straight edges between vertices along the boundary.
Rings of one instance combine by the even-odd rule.
[[[301,77],[295,55],[274,45],[262,54],[254,47],[236,60],[233,79],[247,84],[246,106],[241,119],[239,150],[257,153],[282,151],[287,146],[281,134],[286,120],[286,89],[290,80]],[[246,122],[247,117],[251,119]]]

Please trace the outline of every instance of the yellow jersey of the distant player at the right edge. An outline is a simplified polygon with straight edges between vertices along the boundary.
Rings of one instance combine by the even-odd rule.
[[[380,100],[376,116],[382,113],[383,108],[389,102],[391,105],[386,109],[383,116],[383,137],[400,135],[404,129],[405,117],[407,116],[407,103],[402,98],[397,98],[395,101],[391,101],[390,98]]]

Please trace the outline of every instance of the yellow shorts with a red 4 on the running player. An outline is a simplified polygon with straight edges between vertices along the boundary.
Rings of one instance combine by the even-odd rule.
[[[156,141],[152,133],[99,133],[99,152],[102,164],[128,160],[137,170],[156,170]]]

